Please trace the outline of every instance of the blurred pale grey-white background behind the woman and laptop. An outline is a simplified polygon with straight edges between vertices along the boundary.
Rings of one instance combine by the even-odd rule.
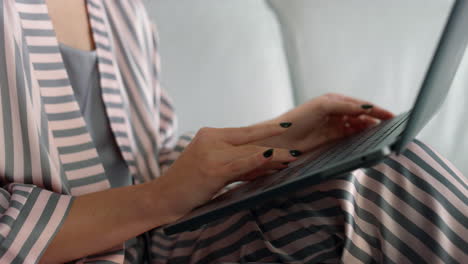
[[[179,132],[249,125],[327,92],[408,110],[452,0],[146,0]],[[468,55],[419,139],[468,175]]]

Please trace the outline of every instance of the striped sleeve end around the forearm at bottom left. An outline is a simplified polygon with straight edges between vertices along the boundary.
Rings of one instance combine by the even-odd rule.
[[[0,188],[0,263],[37,263],[73,198],[34,185]]]

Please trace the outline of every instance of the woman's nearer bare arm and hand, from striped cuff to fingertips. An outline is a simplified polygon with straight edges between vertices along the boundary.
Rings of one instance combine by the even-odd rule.
[[[267,171],[283,168],[282,163],[296,159],[287,150],[247,144],[285,130],[278,124],[201,129],[156,180],[75,198],[41,263],[63,263],[112,249],[177,220],[250,172],[263,166]]]

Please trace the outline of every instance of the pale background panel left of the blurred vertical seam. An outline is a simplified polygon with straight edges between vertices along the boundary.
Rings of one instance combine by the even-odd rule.
[[[264,1],[146,3],[179,131],[248,125],[293,106],[279,25]]]

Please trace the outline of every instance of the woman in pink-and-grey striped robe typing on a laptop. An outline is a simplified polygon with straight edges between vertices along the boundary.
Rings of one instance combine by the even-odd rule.
[[[0,263],[466,261],[466,178],[420,142],[164,236],[157,227],[228,183],[392,114],[325,95],[257,125],[176,140],[139,1],[0,3]]]

